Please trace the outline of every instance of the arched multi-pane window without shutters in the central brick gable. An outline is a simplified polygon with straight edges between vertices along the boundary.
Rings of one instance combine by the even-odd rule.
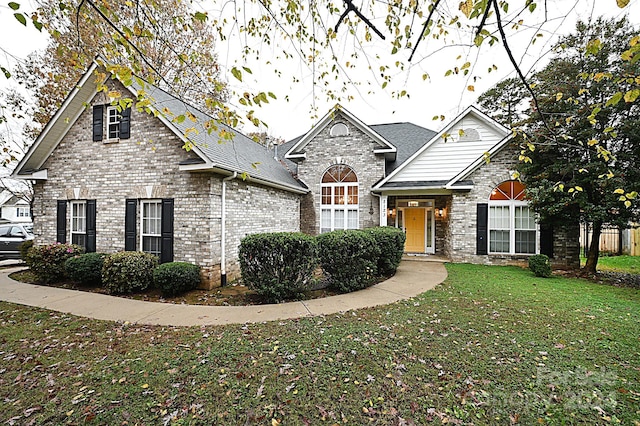
[[[358,178],[351,167],[331,166],[321,182],[320,232],[358,229]]]

